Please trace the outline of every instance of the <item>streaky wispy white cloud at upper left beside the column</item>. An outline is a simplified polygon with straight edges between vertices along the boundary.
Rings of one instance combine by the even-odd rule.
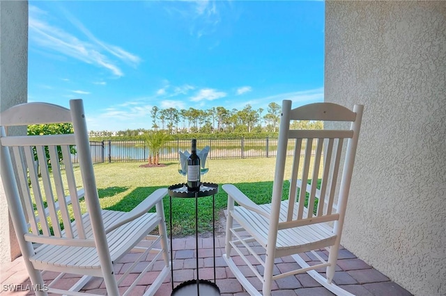
[[[133,66],[141,61],[138,56],[130,54],[128,51],[121,49],[121,47],[106,44],[98,38],[95,38],[77,19],[70,15],[67,17],[70,22],[75,24],[79,31],[82,31],[89,40],[81,40],[72,33],[48,24],[43,19],[46,15],[47,13],[43,10],[30,6],[29,39],[31,40],[31,44],[36,44],[49,51],[56,51],[71,58],[82,60],[84,63],[104,67],[115,76],[123,76],[123,71],[107,55],[115,56],[124,63]]]

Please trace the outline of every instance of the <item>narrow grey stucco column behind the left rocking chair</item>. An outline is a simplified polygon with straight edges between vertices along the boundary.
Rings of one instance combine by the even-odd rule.
[[[28,1],[0,1],[0,110],[27,101],[27,73]],[[26,129],[11,132],[26,133]],[[0,182],[0,262],[19,254]]]

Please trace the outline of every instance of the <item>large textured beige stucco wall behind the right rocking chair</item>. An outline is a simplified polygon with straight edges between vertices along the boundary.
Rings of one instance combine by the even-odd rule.
[[[342,244],[446,295],[446,2],[325,5],[325,101],[364,104]]]

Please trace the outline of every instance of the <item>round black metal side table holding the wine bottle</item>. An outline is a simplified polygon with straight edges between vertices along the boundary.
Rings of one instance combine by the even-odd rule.
[[[170,256],[171,256],[171,295],[220,295],[220,288],[215,283],[215,194],[218,192],[218,185],[214,183],[202,183],[200,190],[188,191],[185,184],[176,184],[168,188],[169,208],[170,208]],[[212,215],[213,215],[213,256],[214,256],[214,282],[200,279],[198,265],[198,199],[200,197],[210,197],[212,195]],[[195,199],[195,250],[197,258],[197,279],[185,281],[174,288],[174,252],[172,249],[172,197],[194,198]]]

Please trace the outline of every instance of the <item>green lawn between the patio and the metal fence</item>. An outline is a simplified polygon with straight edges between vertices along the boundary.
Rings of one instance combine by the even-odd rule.
[[[157,188],[183,183],[178,174],[178,163],[166,162],[165,167],[139,167],[143,163],[100,163],[94,166],[96,184],[102,208],[130,211]],[[275,158],[245,158],[210,160],[210,170],[202,181],[217,183],[215,214],[226,208],[227,195],[221,189],[224,183],[233,183],[257,204],[270,202]],[[289,171],[289,167],[287,167]],[[77,178],[79,171],[76,172]],[[80,183],[78,184],[80,185]],[[289,183],[284,183],[284,195]],[[164,197],[164,214],[169,228],[169,196]],[[84,202],[83,202],[84,203]],[[199,199],[199,231],[212,231],[212,198]],[[218,220],[218,217],[215,217]],[[172,198],[174,236],[194,233],[195,200]]]

